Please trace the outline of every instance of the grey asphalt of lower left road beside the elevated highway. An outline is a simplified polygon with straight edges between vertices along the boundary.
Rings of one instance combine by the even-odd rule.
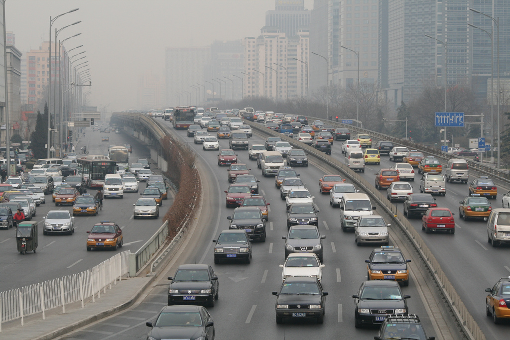
[[[150,151],[126,134],[107,134],[110,142],[101,142],[99,132],[86,130],[86,137],[79,141],[77,150],[83,145],[87,146],[90,154],[104,154],[108,145],[124,145],[131,143],[133,153],[131,161],[136,162],[138,158],[150,158]],[[154,166],[153,166],[154,167]],[[158,171],[158,170],[154,170]],[[143,182],[140,188],[145,188]],[[95,190],[88,190],[94,195]],[[141,191],[140,191],[141,192]],[[137,193],[126,193],[122,199],[105,199],[103,211],[97,216],[77,216],[74,218],[75,232],[67,235],[43,235],[43,216],[50,210],[69,210],[71,206],[55,206],[52,196],[46,195],[46,203],[37,207],[37,216],[33,221],[39,225],[39,247],[37,253],[21,255],[16,251],[16,230],[0,230],[0,292],[35,284],[65,275],[79,273],[90,269],[101,261],[111,257],[114,253],[110,250],[86,250],[87,233],[91,227],[104,220],[114,221],[121,228],[124,235],[124,247],[118,251],[130,249],[135,252],[158,230],[162,224],[162,216],[157,220],[133,220],[133,204],[140,197]],[[171,205],[172,196],[163,201],[164,211]]]

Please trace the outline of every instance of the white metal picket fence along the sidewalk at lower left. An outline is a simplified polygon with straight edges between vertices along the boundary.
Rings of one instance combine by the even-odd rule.
[[[101,297],[101,290],[116,284],[129,271],[129,250],[117,253],[97,266],[78,274],[44,281],[0,293],[0,332],[2,323],[37,313],[45,319],[45,311],[84,300]]]

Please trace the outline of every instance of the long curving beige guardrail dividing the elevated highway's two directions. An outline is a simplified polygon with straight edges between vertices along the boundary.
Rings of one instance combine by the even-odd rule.
[[[307,144],[301,143],[290,137],[283,136],[282,134],[274,132],[271,129],[263,127],[258,123],[253,123],[247,120],[245,120],[245,122],[246,124],[250,125],[252,129],[256,129],[264,135],[280,137],[282,140],[288,141],[291,145],[307,151],[309,155],[313,155],[321,162],[324,162],[329,166],[341,171],[346,177],[363,188],[372,199],[374,199],[382,208],[384,208],[391,216],[394,217],[396,225],[398,225],[413,242],[415,248],[418,250],[420,256],[430,270],[430,273],[432,273],[434,279],[438,283],[438,287],[441,290],[441,293],[445,296],[446,302],[453,311],[455,318],[458,320],[458,324],[460,327],[462,327],[466,336],[472,340],[486,340],[486,336],[481,331],[473,316],[469,313],[468,308],[461,299],[461,296],[456,292],[453,284],[448,279],[435,255],[433,255],[432,251],[428,248],[419,232],[416,231],[416,229],[407,220],[407,218],[405,218],[405,216],[403,216],[403,214],[398,211],[395,205],[388,202],[384,195],[375,189],[365,178],[349,169],[339,160],[328,156]]]

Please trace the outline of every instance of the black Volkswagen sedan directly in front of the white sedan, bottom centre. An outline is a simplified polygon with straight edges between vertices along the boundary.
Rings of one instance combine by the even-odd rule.
[[[288,277],[276,295],[276,323],[281,324],[284,318],[317,319],[317,323],[324,322],[324,305],[327,292],[316,278]]]

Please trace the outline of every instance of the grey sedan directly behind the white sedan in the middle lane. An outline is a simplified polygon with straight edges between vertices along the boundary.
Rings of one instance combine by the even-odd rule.
[[[287,236],[282,236],[285,240],[285,258],[290,253],[307,252],[315,253],[322,262],[322,240],[325,238],[315,225],[293,225]]]

